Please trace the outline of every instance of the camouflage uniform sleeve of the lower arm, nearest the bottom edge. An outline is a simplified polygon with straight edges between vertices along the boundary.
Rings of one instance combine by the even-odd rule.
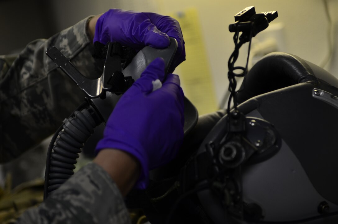
[[[131,223],[121,193],[97,164],[80,169],[39,207],[17,221],[31,223]]]

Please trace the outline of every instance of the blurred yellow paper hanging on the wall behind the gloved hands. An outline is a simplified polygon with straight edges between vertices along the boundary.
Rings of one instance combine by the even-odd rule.
[[[184,94],[199,115],[213,112],[217,110],[216,95],[197,10],[190,8],[170,16],[179,22],[185,41],[187,60],[179,65]]]

